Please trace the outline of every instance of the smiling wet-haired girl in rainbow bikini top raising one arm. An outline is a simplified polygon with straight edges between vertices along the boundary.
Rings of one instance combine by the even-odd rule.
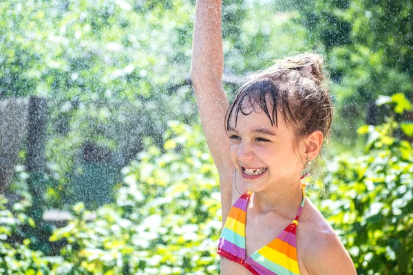
[[[221,0],[198,0],[191,79],[220,173],[222,274],[356,274],[302,174],[332,120],[321,58],[301,54],[251,76],[229,106]]]

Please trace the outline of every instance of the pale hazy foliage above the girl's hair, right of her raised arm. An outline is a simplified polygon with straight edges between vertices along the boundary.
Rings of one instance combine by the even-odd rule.
[[[233,40],[224,36],[226,72],[244,76],[269,67],[274,59],[308,49],[304,43],[306,29],[295,22],[299,15],[296,10],[282,11],[279,3],[261,1],[244,6],[248,8],[243,14],[238,12],[237,36]],[[223,28],[227,23],[223,20]]]

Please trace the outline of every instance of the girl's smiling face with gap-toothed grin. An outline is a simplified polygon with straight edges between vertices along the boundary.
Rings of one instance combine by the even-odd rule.
[[[228,134],[233,164],[247,191],[273,190],[277,184],[293,185],[304,168],[304,151],[302,146],[302,152],[295,146],[293,126],[287,126],[278,111],[278,127],[271,126],[266,113],[257,108],[243,108],[249,114],[238,114],[236,128],[235,112],[232,114]]]

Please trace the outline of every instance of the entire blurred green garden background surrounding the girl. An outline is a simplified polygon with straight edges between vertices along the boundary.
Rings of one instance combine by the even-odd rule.
[[[0,183],[1,274],[219,274],[218,173],[189,81],[194,2],[1,1],[0,107],[47,102],[37,170],[30,111],[21,138],[4,126],[17,115],[0,118],[19,144]],[[308,195],[358,274],[413,274],[412,2],[223,5],[230,100],[275,58],[326,57],[335,122]]]

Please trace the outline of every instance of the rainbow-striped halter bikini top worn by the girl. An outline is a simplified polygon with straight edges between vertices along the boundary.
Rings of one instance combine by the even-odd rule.
[[[218,254],[226,259],[244,265],[255,275],[297,275],[299,274],[295,230],[299,214],[304,208],[306,195],[303,186],[303,200],[297,217],[271,243],[246,258],[245,222],[246,208],[252,192],[246,192],[235,201],[222,230],[218,243]]]

